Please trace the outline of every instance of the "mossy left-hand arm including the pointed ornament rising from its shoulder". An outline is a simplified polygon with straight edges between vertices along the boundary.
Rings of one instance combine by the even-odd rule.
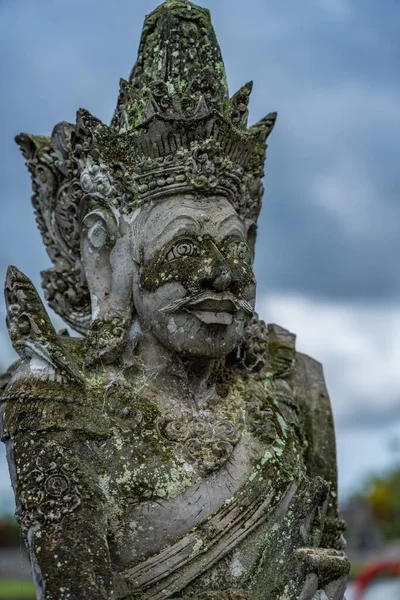
[[[3,390],[0,422],[36,597],[109,600],[96,407],[32,283],[17,269],[9,270],[6,301],[21,362]]]

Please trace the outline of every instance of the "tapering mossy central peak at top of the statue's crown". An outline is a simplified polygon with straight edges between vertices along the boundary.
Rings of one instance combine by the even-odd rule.
[[[185,116],[201,99],[209,109],[222,111],[228,97],[209,11],[167,0],[145,19],[137,62],[129,82],[121,82],[113,126],[126,131],[140,125],[149,116],[149,104]]]

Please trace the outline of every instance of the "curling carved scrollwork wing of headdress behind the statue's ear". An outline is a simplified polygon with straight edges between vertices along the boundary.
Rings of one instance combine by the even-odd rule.
[[[72,155],[75,127],[60,123],[51,139],[22,134],[16,138],[32,175],[36,221],[54,268],[42,272],[50,306],[80,333],[90,324],[90,298],[80,270],[78,212],[83,190],[79,164]]]

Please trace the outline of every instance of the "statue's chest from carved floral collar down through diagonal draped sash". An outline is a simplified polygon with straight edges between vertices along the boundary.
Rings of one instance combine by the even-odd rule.
[[[148,583],[149,560],[168,570],[171,560],[183,564],[207,540],[216,549],[220,538],[224,548],[235,546],[246,528],[261,522],[291,444],[279,411],[264,396],[236,394],[179,417],[146,414],[138,404],[118,415],[102,448],[99,481],[113,515],[113,562],[139,588]]]

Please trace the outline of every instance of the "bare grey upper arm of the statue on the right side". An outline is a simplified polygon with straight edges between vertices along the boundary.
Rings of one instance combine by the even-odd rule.
[[[322,477],[330,486],[321,546],[343,550],[345,522],[338,511],[335,428],[321,363],[296,352],[291,383],[300,411],[308,475]]]

